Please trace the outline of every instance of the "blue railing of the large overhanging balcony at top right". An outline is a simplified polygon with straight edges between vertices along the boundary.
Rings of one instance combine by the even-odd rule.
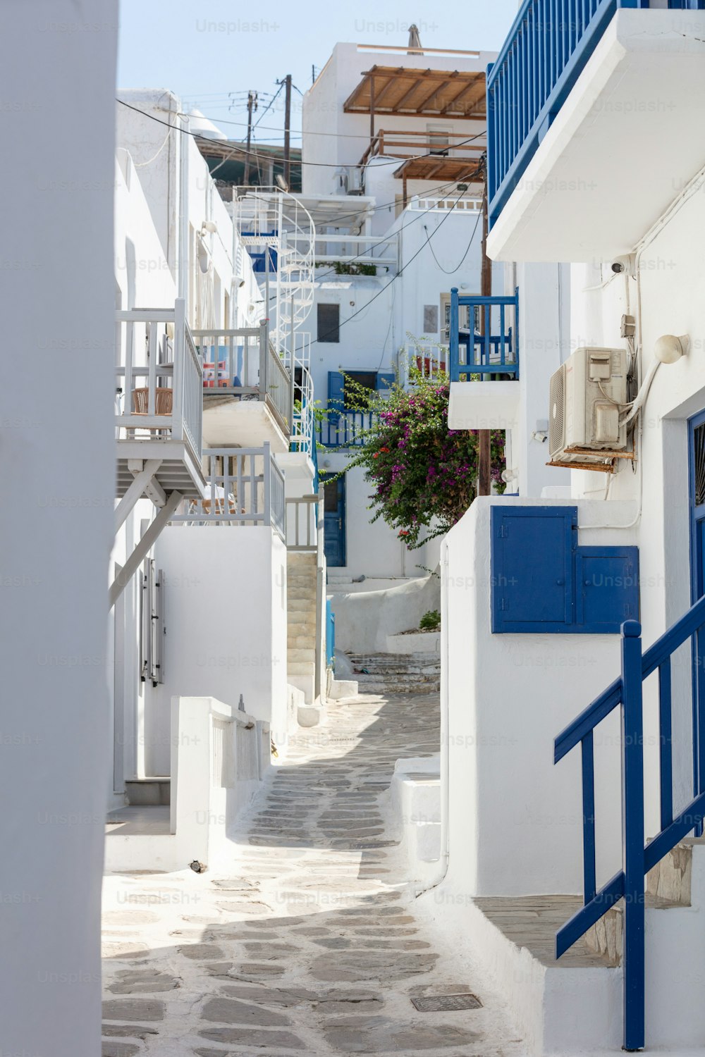
[[[524,0],[487,68],[487,198],[497,220],[618,7],[649,0]],[[705,0],[668,0],[702,11]]]

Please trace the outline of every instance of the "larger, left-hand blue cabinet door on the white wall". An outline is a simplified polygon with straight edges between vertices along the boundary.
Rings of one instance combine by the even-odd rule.
[[[575,506],[491,508],[491,630],[570,631]]]

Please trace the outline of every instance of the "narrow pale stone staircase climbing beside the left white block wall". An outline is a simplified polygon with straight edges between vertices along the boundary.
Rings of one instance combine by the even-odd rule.
[[[316,554],[286,555],[286,681],[316,697]]]

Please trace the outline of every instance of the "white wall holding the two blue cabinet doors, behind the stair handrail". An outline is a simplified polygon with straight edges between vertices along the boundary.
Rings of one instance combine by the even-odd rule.
[[[489,511],[536,500],[476,499],[442,551],[442,708],[449,781],[446,891],[471,895],[580,892],[580,753],[553,764],[553,742],[619,673],[619,635],[493,634]],[[564,505],[542,500],[541,505]],[[629,521],[632,505],[615,504]],[[604,507],[578,505],[579,543],[625,544],[599,528]],[[620,865],[619,719],[595,737],[597,882]]]

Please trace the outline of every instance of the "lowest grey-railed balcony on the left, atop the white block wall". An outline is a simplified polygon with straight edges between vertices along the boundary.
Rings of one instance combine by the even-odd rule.
[[[185,500],[172,524],[262,526],[284,539],[284,478],[268,444],[204,452],[204,496]]]

